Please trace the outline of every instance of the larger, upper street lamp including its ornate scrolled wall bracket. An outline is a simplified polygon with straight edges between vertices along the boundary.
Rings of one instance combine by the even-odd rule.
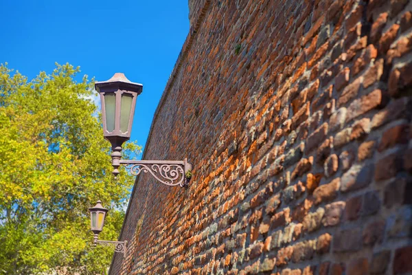
[[[150,173],[162,184],[187,186],[192,177],[192,164],[184,160],[130,160],[122,159],[122,144],[130,139],[137,96],[143,85],[133,83],[122,73],[95,83],[102,102],[103,135],[112,145],[113,175],[117,178],[123,165],[132,175]]]

